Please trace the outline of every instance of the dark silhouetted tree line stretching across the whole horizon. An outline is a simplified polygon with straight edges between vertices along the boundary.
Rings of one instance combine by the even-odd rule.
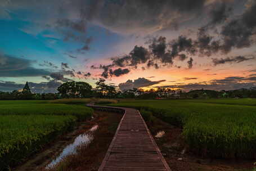
[[[116,91],[115,87],[105,83],[105,79],[96,82],[96,88],[86,82],[65,82],[57,88],[58,93],[32,93],[26,82],[20,91],[0,92],[0,100],[54,100],[58,98],[141,98],[141,99],[187,99],[187,98],[256,98],[256,89],[238,89],[234,91],[213,91],[213,90],[173,90],[159,87],[157,89],[129,89]]]

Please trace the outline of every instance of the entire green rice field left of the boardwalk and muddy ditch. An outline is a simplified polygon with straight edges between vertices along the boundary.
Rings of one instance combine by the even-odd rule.
[[[77,120],[91,118],[85,105],[48,101],[0,101],[0,170],[20,163]]]

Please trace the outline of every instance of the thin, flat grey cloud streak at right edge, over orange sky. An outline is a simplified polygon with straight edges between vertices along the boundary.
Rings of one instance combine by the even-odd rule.
[[[236,57],[226,57],[224,59],[212,59],[213,60],[213,64],[216,66],[216,65],[219,65],[219,64],[225,64],[225,63],[232,63],[232,62],[235,62],[235,63],[240,63],[240,62],[243,62],[243,61],[248,61],[248,60],[252,60],[252,59],[255,59],[255,57],[245,57],[245,56],[236,56]]]

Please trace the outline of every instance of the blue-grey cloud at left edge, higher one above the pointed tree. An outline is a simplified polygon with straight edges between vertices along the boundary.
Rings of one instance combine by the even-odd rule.
[[[33,68],[34,62],[0,54],[0,77],[37,77],[50,74],[47,70]]]

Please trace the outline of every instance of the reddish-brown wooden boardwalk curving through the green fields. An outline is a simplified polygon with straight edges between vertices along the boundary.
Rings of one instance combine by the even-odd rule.
[[[98,170],[170,170],[138,110],[107,108],[122,109],[125,113]]]

